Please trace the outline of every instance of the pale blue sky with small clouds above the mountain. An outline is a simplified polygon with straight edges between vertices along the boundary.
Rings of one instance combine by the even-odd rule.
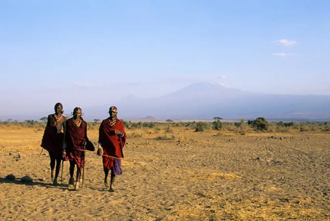
[[[1,0],[0,113],[204,81],[330,94],[329,12],[329,0]]]

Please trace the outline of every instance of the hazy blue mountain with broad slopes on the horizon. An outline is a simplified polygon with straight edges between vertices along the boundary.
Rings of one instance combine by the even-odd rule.
[[[276,95],[247,92],[213,83],[197,83],[174,93],[152,99],[130,95],[115,103],[84,108],[84,119],[107,118],[111,105],[118,107],[121,119],[319,119],[330,120],[329,95]],[[25,119],[40,119],[35,113]],[[4,116],[1,119],[22,119]],[[151,119],[151,120],[152,120]]]

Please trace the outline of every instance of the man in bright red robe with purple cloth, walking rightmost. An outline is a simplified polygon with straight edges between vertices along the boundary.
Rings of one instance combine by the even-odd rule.
[[[99,149],[98,154],[102,155],[104,170],[104,185],[108,187],[108,174],[111,170],[111,180],[109,191],[113,192],[115,175],[121,175],[120,159],[124,157],[123,148],[126,144],[126,133],[124,124],[117,119],[117,108],[109,108],[110,117],[102,120],[99,127]],[[103,149],[103,154],[101,154]]]

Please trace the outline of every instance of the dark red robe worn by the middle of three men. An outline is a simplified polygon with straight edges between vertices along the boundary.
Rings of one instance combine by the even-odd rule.
[[[80,126],[78,127],[73,118],[66,120],[66,155],[69,161],[74,161],[79,168],[84,167],[85,153],[83,141],[88,141],[87,138],[87,123],[82,119]]]

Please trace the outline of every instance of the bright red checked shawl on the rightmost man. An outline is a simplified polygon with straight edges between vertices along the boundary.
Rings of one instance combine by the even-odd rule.
[[[124,134],[123,137],[120,135],[115,135],[115,130],[118,130]],[[103,148],[103,154],[115,157],[124,157],[123,148],[126,144],[126,133],[124,129],[124,124],[116,119],[114,126],[110,124],[110,118],[102,120],[99,127],[99,143]],[[103,166],[108,170],[114,165],[114,158],[102,156]]]

